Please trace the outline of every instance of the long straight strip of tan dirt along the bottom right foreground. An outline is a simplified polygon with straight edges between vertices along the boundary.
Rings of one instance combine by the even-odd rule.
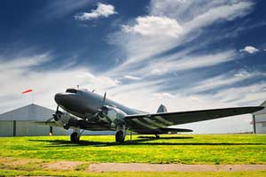
[[[89,172],[241,172],[266,170],[266,165],[178,165],[141,163],[90,164]]]

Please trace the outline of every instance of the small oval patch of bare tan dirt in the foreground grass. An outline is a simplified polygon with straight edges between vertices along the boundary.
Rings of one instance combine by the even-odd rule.
[[[52,170],[74,170],[78,165],[82,165],[82,162],[57,161],[57,162],[44,164],[43,168],[52,169]]]

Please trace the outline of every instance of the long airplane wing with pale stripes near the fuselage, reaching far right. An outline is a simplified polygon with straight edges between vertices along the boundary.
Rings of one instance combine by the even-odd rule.
[[[163,112],[153,114],[137,114],[125,117],[127,126],[132,131],[145,132],[158,128],[198,122],[208,119],[219,119],[240,114],[257,112],[264,109],[263,106],[223,108],[215,110],[201,110],[192,112]]]

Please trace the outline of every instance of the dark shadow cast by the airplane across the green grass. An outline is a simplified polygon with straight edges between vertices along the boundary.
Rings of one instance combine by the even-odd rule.
[[[81,140],[79,143],[70,142],[67,140],[28,140],[30,142],[51,142],[45,147],[80,147],[80,146],[94,146],[94,147],[107,147],[107,146],[123,146],[123,145],[214,145],[214,146],[228,146],[228,145],[266,145],[266,143],[246,143],[246,142],[151,142],[153,140],[169,140],[169,139],[192,139],[192,137],[161,137],[157,139],[150,136],[139,136],[137,140],[128,140],[125,142],[90,142]]]

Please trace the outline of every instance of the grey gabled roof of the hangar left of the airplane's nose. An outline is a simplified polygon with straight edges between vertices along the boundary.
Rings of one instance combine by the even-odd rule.
[[[0,114],[0,120],[47,120],[55,111],[37,104],[28,104],[10,112]]]

